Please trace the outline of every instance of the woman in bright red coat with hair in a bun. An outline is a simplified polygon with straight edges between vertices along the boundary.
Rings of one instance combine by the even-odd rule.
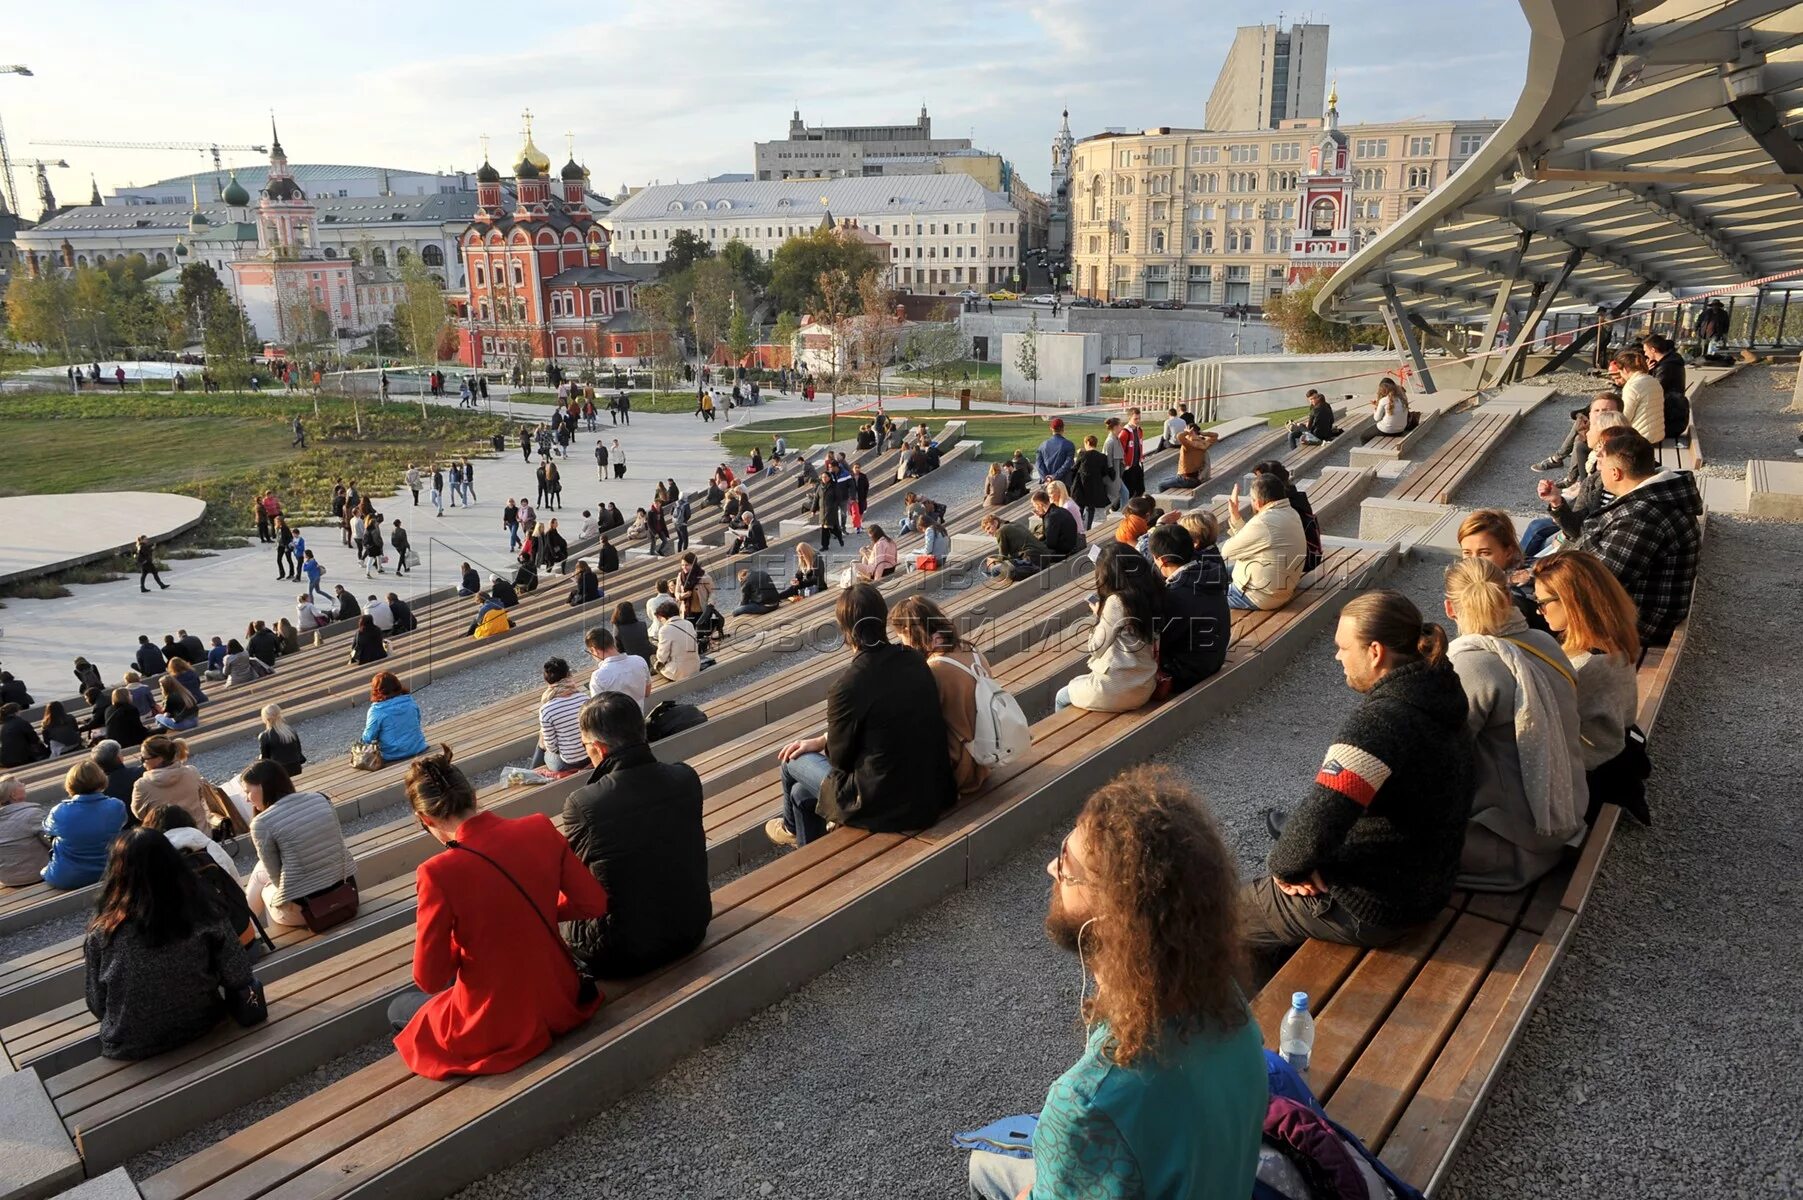
[[[608,894],[548,818],[480,811],[449,746],[413,760],[407,800],[445,850],[415,872],[418,991],[389,1004],[395,1049],[427,1079],[512,1070],[600,1007],[557,923],[606,915]]]

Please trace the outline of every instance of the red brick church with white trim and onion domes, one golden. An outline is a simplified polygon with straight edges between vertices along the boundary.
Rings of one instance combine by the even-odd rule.
[[[525,351],[566,369],[635,366],[651,350],[633,312],[638,277],[608,267],[588,169],[572,151],[554,182],[550,159],[532,142],[530,110],[525,121],[514,177],[503,180],[487,155],[476,171],[476,216],[462,236],[469,292],[458,359],[505,366]]]

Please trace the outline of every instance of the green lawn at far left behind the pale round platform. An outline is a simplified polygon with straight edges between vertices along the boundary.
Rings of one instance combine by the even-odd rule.
[[[498,418],[411,404],[281,393],[83,393],[0,396],[7,470],[0,495],[175,492],[207,503],[202,524],[166,551],[242,544],[251,503],[276,488],[288,512],[325,514],[337,477],[398,483],[407,463],[489,450]],[[361,407],[362,432],[357,432]],[[307,449],[290,449],[301,418]],[[99,564],[97,569],[108,569]]]

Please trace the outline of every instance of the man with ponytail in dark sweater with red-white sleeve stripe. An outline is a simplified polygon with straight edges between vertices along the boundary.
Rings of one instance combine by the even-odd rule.
[[[1475,786],[1466,695],[1446,634],[1394,591],[1352,598],[1334,647],[1363,703],[1327,748],[1307,798],[1269,813],[1277,845],[1246,885],[1246,939],[1385,946],[1451,895]]]

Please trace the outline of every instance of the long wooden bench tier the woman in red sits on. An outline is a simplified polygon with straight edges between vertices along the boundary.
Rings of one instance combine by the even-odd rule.
[[[1230,667],[1136,714],[1064,710],[1035,724],[1031,755],[984,795],[918,836],[840,829],[716,892],[703,948],[649,978],[609,986],[609,1004],[554,1050],[510,1076],[415,1079],[388,1058],[142,1182],[150,1200],[207,1195],[426,1196],[512,1162],[645,1081],[678,1056],[867,944],[1075,809],[1120,762],[1237,703],[1356,586],[1381,573],[1368,551],[1356,578],[1313,587],[1289,636],[1242,645]],[[1253,614],[1257,616],[1257,614]],[[1278,616],[1278,614],[1271,614]],[[90,1162],[90,1171],[97,1169]]]

